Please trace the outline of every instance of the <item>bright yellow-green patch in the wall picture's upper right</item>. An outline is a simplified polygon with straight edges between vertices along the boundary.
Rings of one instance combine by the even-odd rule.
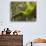
[[[27,8],[25,9],[25,11],[23,11],[23,15],[29,16],[29,14],[32,13],[36,5],[35,3],[30,4],[29,2],[26,2],[25,4]]]

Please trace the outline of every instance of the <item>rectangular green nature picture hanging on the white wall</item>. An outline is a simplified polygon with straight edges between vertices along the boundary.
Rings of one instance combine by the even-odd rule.
[[[11,2],[11,21],[36,21],[36,2]]]

